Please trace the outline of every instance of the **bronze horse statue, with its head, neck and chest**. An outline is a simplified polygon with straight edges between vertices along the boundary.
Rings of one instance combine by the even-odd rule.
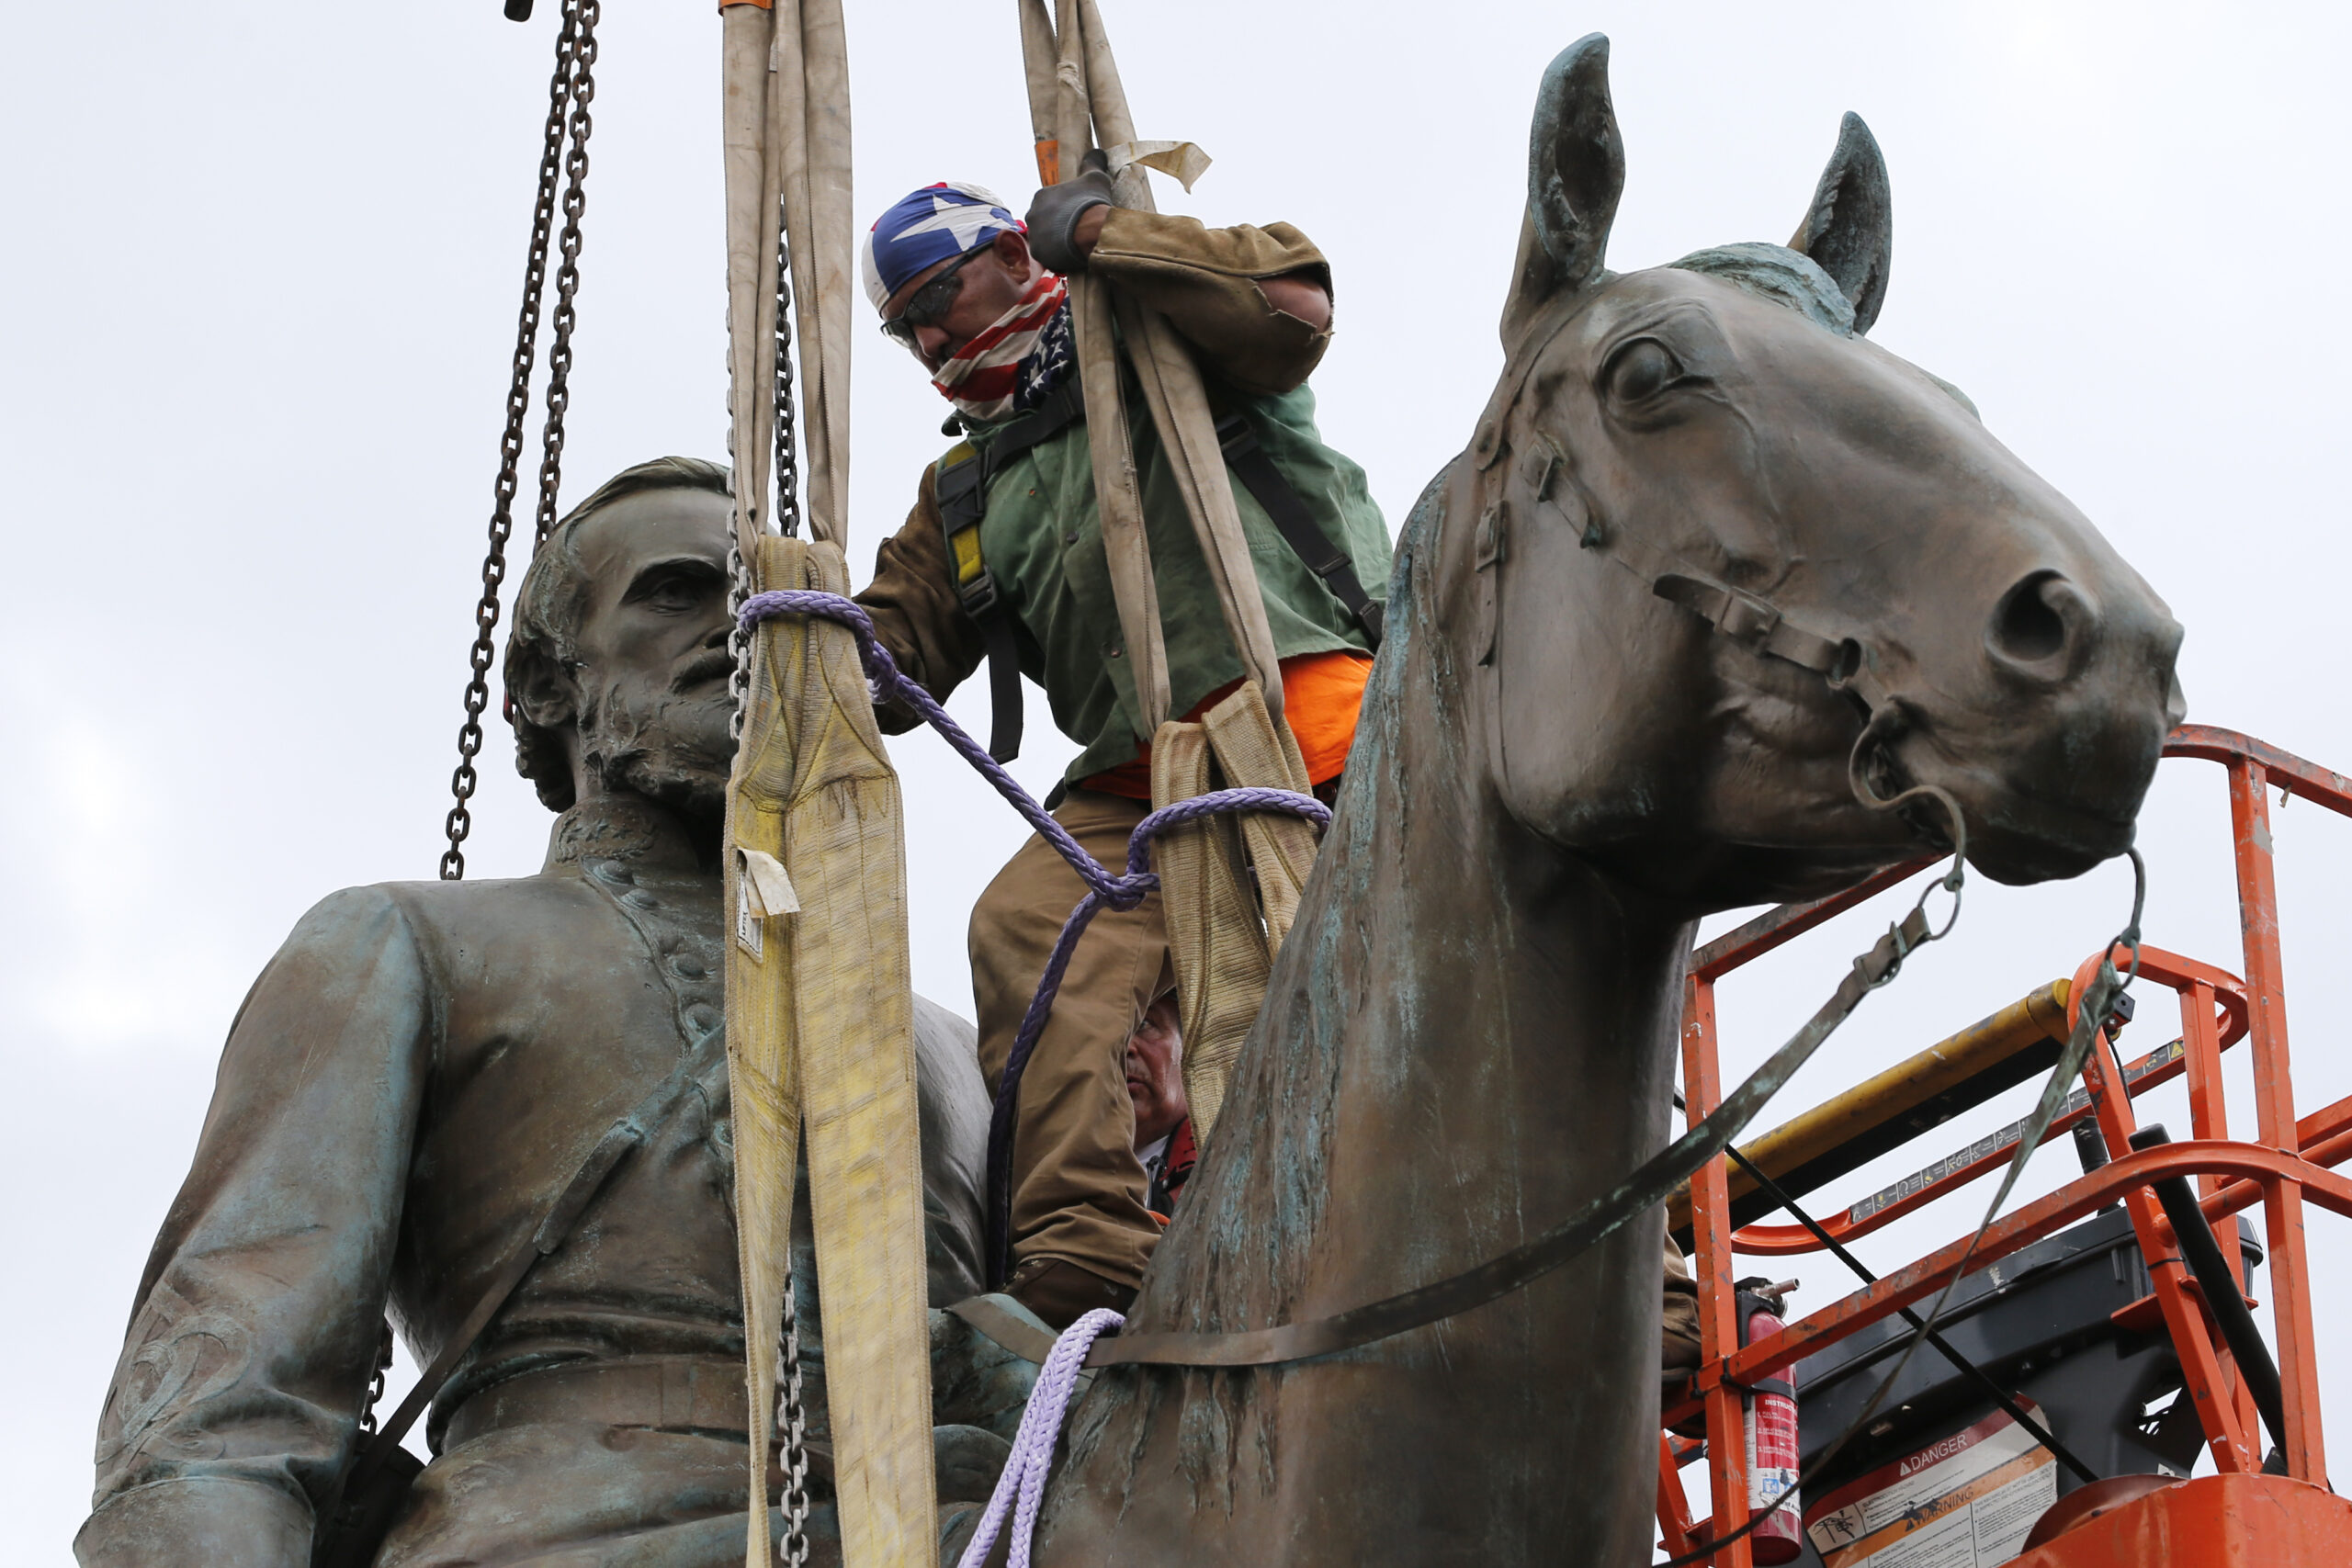
[[[1790,247],[1613,275],[1621,186],[1595,35],[1545,71],[1505,374],[1406,522],[1338,818],[1131,1331],[1345,1312],[1606,1192],[1668,1140],[1698,917],[1940,844],[1929,790],[2002,879],[2131,842],[2180,630],[1863,339],[1860,120]],[[1343,1354],[1103,1368],[1040,1561],[1649,1561],[1658,1227]]]

